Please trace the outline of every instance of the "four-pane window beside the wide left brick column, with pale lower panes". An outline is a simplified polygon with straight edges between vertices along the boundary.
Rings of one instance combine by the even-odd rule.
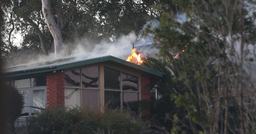
[[[99,106],[99,67],[65,71],[65,105]]]

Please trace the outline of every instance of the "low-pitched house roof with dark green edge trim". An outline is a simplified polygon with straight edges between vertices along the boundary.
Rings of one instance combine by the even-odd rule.
[[[90,65],[95,63],[102,63],[112,61],[115,63],[119,63],[125,66],[129,66],[131,68],[138,69],[140,71],[144,71],[149,74],[153,74],[158,77],[162,77],[162,73],[159,71],[152,70],[150,68],[146,68],[144,66],[140,66],[134,63],[130,63],[128,61],[113,57],[113,56],[105,56],[105,57],[97,57],[93,59],[86,59],[86,60],[75,60],[75,57],[59,59],[59,60],[52,60],[43,63],[32,63],[32,64],[22,64],[18,66],[11,66],[3,70],[4,77],[17,77],[22,75],[29,75],[29,74],[37,74],[37,73],[44,73],[49,71],[57,71],[63,70],[66,68],[73,68],[77,66],[84,66]]]

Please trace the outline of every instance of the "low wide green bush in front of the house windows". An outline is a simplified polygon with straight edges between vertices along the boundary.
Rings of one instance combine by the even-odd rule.
[[[29,134],[139,134],[142,120],[118,109],[49,108],[28,119]]]

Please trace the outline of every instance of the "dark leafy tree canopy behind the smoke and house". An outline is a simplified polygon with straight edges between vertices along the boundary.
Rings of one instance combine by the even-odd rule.
[[[6,23],[6,35],[12,37],[20,32],[23,39],[20,47],[15,48],[10,38],[7,48],[12,56],[7,57],[14,59],[13,53],[17,57],[27,53],[38,54],[38,51],[43,54],[52,53],[54,39],[42,12],[41,0],[6,1],[6,18],[10,11],[13,12],[12,18]],[[174,11],[177,9],[169,0],[51,0],[50,10],[47,11],[51,11],[55,20],[52,22],[60,28],[61,34],[58,32],[56,35],[62,37],[64,44],[71,42],[66,48],[72,49],[76,45],[72,42],[84,37],[90,39],[85,45],[91,45],[102,40],[114,41],[131,31],[139,34],[147,20],[158,19],[160,14],[169,10],[166,6],[173,6]],[[9,27],[14,30],[11,32]]]

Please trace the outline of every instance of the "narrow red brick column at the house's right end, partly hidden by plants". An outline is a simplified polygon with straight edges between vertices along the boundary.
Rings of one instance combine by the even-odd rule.
[[[141,80],[141,100],[150,100],[150,86],[149,86],[150,79],[149,79],[149,76],[142,74],[141,77],[140,77],[140,80]],[[141,116],[143,116],[143,117],[147,116],[149,114],[150,114],[149,108],[144,109],[141,112]]]

